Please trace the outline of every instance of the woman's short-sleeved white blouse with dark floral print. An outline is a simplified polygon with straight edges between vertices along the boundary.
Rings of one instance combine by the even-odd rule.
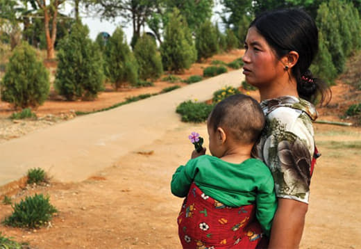
[[[308,203],[314,153],[312,120],[316,120],[317,111],[310,102],[292,96],[260,104],[266,127],[253,148],[253,156],[271,170],[278,198]]]

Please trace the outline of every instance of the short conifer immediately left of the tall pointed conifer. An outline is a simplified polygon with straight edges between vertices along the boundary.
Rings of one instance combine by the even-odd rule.
[[[142,35],[134,47],[134,56],[139,65],[140,79],[157,79],[162,75],[163,65],[156,41],[149,35]]]

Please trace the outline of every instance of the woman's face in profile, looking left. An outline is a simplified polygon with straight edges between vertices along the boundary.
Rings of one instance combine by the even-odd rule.
[[[247,83],[262,88],[277,82],[285,66],[276,58],[274,51],[255,27],[249,29],[244,47],[243,74]]]

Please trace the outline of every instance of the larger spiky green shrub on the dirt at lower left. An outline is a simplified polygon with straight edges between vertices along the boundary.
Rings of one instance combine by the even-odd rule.
[[[28,196],[12,207],[11,216],[8,216],[3,223],[12,227],[35,228],[47,224],[51,220],[56,208],[49,203],[49,196],[35,194]]]

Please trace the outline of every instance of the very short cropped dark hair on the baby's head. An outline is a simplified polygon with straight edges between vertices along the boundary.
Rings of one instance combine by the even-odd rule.
[[[251,144],[257,142],[265,127],[265,115],[252,97],[231,95],[215,106],[209,115],[208,125],[214,131],[222,127],[235,141]]]

